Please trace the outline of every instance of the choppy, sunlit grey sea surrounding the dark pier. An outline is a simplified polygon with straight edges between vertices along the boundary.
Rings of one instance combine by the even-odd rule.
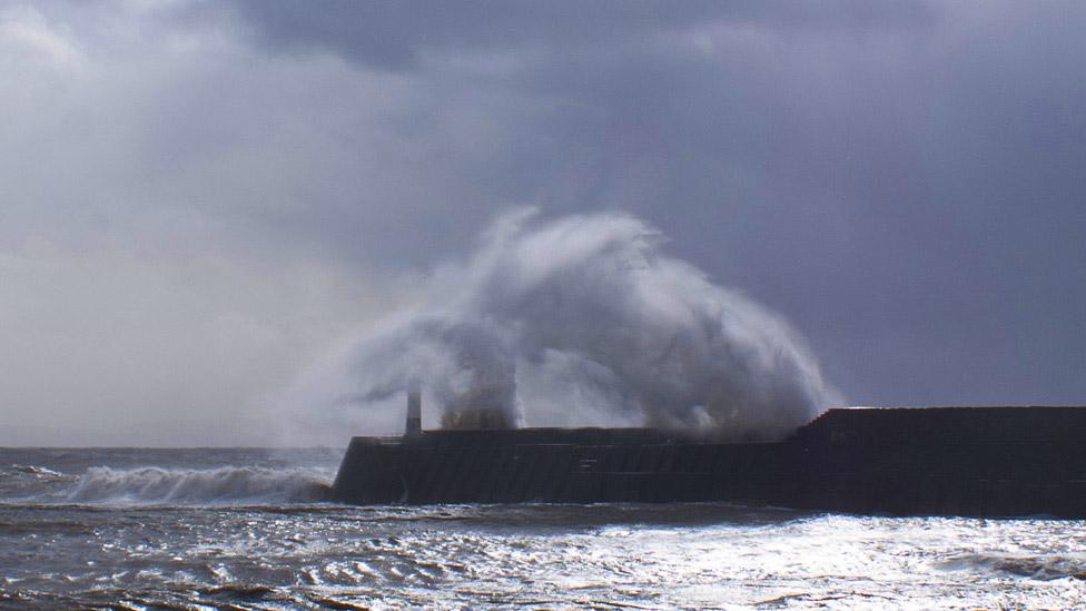
[[[1084,522],[352,507],[329,450],[0,450],[0,608],[1084,607]]]

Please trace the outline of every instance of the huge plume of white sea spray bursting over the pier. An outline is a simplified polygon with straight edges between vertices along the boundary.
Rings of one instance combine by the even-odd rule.
[[[527,425],[773,437],[821,411],[831,391],[798,335],[662,242],[624,214],[507,214],[417,307],[348,346],[317,403],[402,416],[417,375],[446,422],[488,407]]]

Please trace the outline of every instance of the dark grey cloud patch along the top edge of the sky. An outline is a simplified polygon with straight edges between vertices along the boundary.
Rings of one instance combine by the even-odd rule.
[[[918,2],[234,2],[237,19],[274,49],[327,49],[391,70],[416,69],[427,52],[599,47],[644,40],[717,20],[794,29],[898,27],[926,21]],[[218,10],[218,7],[214,8]]]

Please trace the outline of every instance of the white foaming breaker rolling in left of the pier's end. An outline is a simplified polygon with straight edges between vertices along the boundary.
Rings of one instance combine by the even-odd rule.
[[[72,503],[263,504],[324,500],[326,473],[224,466],[208,470],[95,466],[67,495]]]

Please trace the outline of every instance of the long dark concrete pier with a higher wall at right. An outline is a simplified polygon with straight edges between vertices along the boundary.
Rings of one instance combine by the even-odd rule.
[[[648,428],[354,437],[334,492],[356,504],[727,501],[1086,518],[1086,407],[830,410],[776,443]]]

